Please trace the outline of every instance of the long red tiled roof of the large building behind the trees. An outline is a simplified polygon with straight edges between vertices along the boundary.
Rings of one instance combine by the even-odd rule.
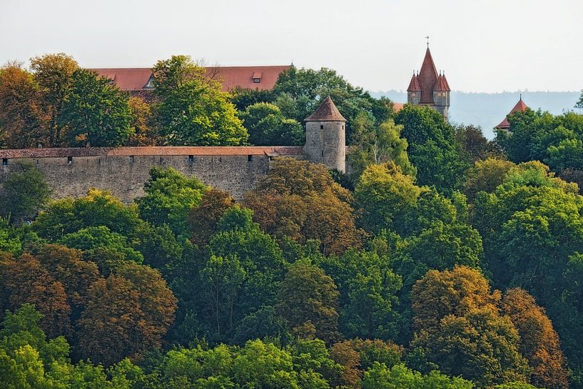
[[[230,91],[235,87],[263,91],[273,89],[279,75],[288,69],[290,66],[209,66],[206,68],[206,74],[213,79],[220,80],[223,83],[223,91]],[[150,68],[88,70],[113,80],[122,91],[142,91],[152,75]],[[253,78],[257,75],[259,75],[260,81],[255,83]]]

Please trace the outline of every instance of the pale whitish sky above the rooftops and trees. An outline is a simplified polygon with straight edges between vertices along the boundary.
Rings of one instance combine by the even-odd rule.
[[[583,89],[583,0],[0,0],[0,63],[65,52],[84,67],[329,67],[407,89],[425,54],[461,91]]]

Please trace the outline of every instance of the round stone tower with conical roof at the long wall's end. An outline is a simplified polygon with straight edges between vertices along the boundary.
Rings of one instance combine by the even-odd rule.
[[[308,118],[305,118],[304,153],[315,163],[330,169],[346,168],[346,119],[328,96]]]

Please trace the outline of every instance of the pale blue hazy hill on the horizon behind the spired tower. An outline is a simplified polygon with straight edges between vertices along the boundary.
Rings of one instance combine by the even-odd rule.
[[[387,96],[397,103],[407,102],[407,92],[371,92],[372,96]],[[455,123],[481,126],[484,135],[494,137],[492,128],[496,126],[517,103],[519,92],[501,94],[481,94],[452,91],[450,120]],[[524,103],[536,110],[541,108],[553,114],[574,109],[581,92],[522,92]]]

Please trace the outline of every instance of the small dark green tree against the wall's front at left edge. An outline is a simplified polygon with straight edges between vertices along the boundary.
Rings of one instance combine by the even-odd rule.
[[[13,223],[31,220],[48,203],[51,188],[44,174],[31,164],[15,166],[4,181],[0,194],[0,215],[9,216]]]

